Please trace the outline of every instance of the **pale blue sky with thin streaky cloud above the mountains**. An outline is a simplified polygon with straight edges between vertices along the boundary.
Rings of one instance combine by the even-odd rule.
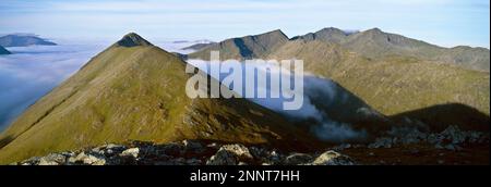
[[[0,33],[116,40],[212,39],[280,28],[379,27],[435,45],[489,48],[489,0],[2,0]]]

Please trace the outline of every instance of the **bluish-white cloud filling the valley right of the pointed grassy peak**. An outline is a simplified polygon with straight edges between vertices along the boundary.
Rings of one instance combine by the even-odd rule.
[[[209,68],[211,65],[218,65],[218,63],[209,63],[208,61],[202,60],[188,60],[188,63],[199,67],[202,71],[206,71],[206,68]],[[264,71],[266,66],[264,63],[254,63],[253,65],[261,71]],[[277,74],[279,72],[282,72],[282,70],[273,70],[270,73]],[[220,80],[223,80],[225,76],[227,76],[227,74],[221,74],[219,77]],[[326,141],[357,140],[367,136],[364,130],[354,129],[351,125],[347,123],[348,120],[343,119],[343,115],[349,115],[346,119],[354,119],[356,111],[364,107],[362,101],[354,102],[352,96],[331,79],[304,75],[303,85],[303,92],[289,92],[289,95],[303,95],[303,105],[299,110],[284,110],[283,103],[285,101],[289,101],[290,99],[284,97],[270,97],[272,94],[270,85],[263,88],[256,87],[256,90],[266,89],[268,96],[267,98],[255,97],[248,99],[282,113],[295,122],[300,124],[308,123],[307,125],[311,126],[312,134]],[[231,86],[231,89],[233,87]],[[244,92],[241,95],[244,96]],[[338,117],[339,121],[336,121],[330,116],[330,114],[333,113],[340,115],[340,117]]]

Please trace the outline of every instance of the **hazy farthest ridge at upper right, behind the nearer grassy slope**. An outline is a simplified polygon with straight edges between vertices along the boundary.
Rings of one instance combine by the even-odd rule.
[[[355,34],[345,34],[337,28],[324,28],[314,34],[295,37],[306,41],[321,40],[340,45],[343,48],[374,60],[394,55],[447,63],[468,70],[489,72],[490,51],[484,48],[443,48],[405,36],[384,33],[373,28]]]

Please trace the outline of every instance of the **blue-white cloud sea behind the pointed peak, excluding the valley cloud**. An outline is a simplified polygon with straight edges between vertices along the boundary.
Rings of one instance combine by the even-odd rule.
[[[0,132],[40,97],[74,74],[110,41],[56,40],[59,46],[8,48],[13,54],[0,55]],[[157,41],[171,51],[189,53],[183,47],[200,41]]]

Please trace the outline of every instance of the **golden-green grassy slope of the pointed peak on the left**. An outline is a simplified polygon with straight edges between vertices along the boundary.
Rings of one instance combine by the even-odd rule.
[[[188,98],[189,76],[183,61],[135,34],[127,35],[0,135],[0,163],[130,139],[289,148],[314,144],[278,114],[248,100]]]

